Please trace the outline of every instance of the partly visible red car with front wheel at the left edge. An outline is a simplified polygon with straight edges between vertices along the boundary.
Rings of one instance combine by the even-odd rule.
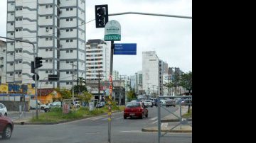
[[[3,139],[10,139],[14,130],[14,122],[11,118],[1,115],[0,113],[0,135]]]

